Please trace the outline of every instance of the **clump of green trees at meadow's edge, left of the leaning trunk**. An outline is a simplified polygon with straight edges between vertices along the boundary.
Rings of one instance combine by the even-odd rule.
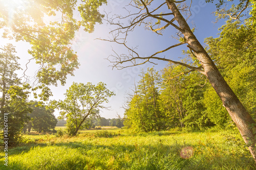
[[[143,77],[125,110],[126,128],[147,132],[173,127],[204,129],[214,125],[205,112],[206,82],[202,75],[185,74],[188,69],[174,64],[162,70],[162,79],[154,71],[153,68],[146,73],[142,71]]]

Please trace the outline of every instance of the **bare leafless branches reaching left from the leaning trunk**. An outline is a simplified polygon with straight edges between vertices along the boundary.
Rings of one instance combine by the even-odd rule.
[[[108,15],[107,15],[107,19],[106,20],[111,25],[116,25],[119,28],[116,28],[116,29],[114,29],[114,30],[112,30],[110,32],[112,34],[113,38],[111,38],[111,39],[100,39],[100,40],[109,41],[109,42],[115,42],[117,44],[123,45],[127,49],[127,51],[128,51],[127,54],[117,54],[114,50],[112,50],[114,52],[114,55],[110,55],[107,58],[107,60],[109,60],[111,63],[113,63],[112,68],[116,67],[117,69],[123,69],[123,68],[127,68],[127,67],[142,65],[142,64],[147,63],[147,62],[156,64],[156,63],[152,62],[152,60],[155,59],[155,60],[162,60],[162,61],[167,61],[167,62],[170,62],[170,63],[182,65],[184,67],[189,68],[190,71],[197,70],[197,71],[201,72],[202,74],[204,74],[204,70],[202,69],[201,66],[200,67],[195,67],[195,66],[191,66],[189,64],[185,64],[185,63],[182,63],[182,62],[173,61],[173,60],[167,59],[165,57],[158,57],[157,56],[157,55],[159,55],[161,53],[167,52],[168,50],[170,50],[170,49],[172,49],[174,47],[177,47],[177,46],[180,46],[180,45],[183,45],[183,44],[187,43],[185,41],[185,39],[182,42],[179,42],[179,43],[177,43],[175,45],[169,46],[169,47],[165,48],[162,51],[158,51],[158,52],[156,52],[156,53],[154,53],[154,54],[152,54],[150,56],[146,56],[146,57],[141,57],[136,52],[137,46],[136,47],[130,47],[129,45],[126,44],[126,38],[127,38],[128,32],[133,31],[135,26],[140,26],[141,23],[144,23],[146,27],[148,27],[151,31],[153,31],[153,32],[155,32],[155,33],[157,33],[159,35],[162,35],[161,31],[166,29],[168,26],[171,25],[171,26],[175,27],[179,31],[177,34],[178,34],[178,36],[180,38],[182,38],[180,36],[180,34],[182,32],[184,32],[184,31],[173,23],[176,20],[175,17],[173,17],[170,20],[168,20],[166,18],[163,18],[163,16],[173,15],[172,12],[164,13],[164,14],[162,14],[162,13],[161,14],[154,14],[154,12],[156,12],[160,7],[162,7],[167,2],[161,4],[160,6],[158,6],[154,10],[152,10],[152,12],[147,7],[147,5],[150,4],[151,2],[152,1],[145,3],[144,1],[140,0],[140,4],[139,5],[136,4],[136,5],[138,5],[137,7],[139,9],[139,12],[136,13],[137,14],[136,17],[131,18],[131,21],[129,21],[130,25],[128,25],[128,26],[123,26],[119,22],[114,23],[114,20],[115,19],[129,18],[129,17],[133,16],[134,14],[129,14],[128,16],[125,16],[125,17],[114,16],[114,18],[109,18]],[[184,1],[179,1],[177,3],[181,3],[181,2],[184,2]],[[132,5],[132,4],[130,3],[130,5]],[[191,6],[191,4],[190,4],[190,6]],[[185,8],[188,8],[188,7],[185,7]],[[143,13],[142,12],[143,10],[145,10],[146,12]],[[146,20],[147,18],[153,18],[153,19],[157,19],[158,21],[164,21],[164,22],[166,22],[166,24],[161,26],[160,22],[156,22],[155,25],[152,25],[151,21]],[[158,27],[161,26],[161,27],[160,28],[155,28],[155,26],[158,26]],[[180,40],[180,39],[178,39],[178,40]],[[125,63],[127,63],[127,64],[125,64]],[[183,74],[185,74],[185,71],[184,71]]]

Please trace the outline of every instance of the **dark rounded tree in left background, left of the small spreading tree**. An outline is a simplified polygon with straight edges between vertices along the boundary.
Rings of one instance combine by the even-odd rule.
[[[38,102],[33,102],[32,109],[33,111],[28,116],[31,119],[30,121],[34,130],[41,133],[42,131],[49,132],[50,129],[55,128],[57,119],[53,115],[53,109],[47,108],[46,106],[38,106]]]

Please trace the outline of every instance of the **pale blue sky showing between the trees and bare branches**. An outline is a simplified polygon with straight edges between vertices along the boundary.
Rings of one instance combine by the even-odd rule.
[[[129,1],[130,2],[130,1]],[[163,2],[163,1],[159,1]],[[108,6],[102,7],[102,11],[111,11],[112,14],[125,14],[123,7],[127,5],[127,1],[124,0],[112,0],[108,1]],[[166,9],[167,10],[167,9]],[[204,44],[204,38],[206,37],[217,37],[218,28],[223,25],[222,22],[215,22],[215,16],[212,12],[215,11],[214,4],[206,4],[204,0],[193,1],[191,5],[192,16],[188,20],[190,27],[196,26],[195,35],[198,40]],[[144,64],[141,66],[125,68],[122,70],[112,69],[111,63],[104,58],[107,58],[110,54],[113,54],[112,48],[119,53],[126,53],[120,45],[110,43],[107,41],[95,40],[96,38],[108,38],[111,27],[103,22],[102,25],[96,25],[94,33],[86,33],[80,30],[75,37],[73,43],[73,49],[77,52],[79,57],[80,66],[79,69],[74,71],[75,76],[68,76],[67,83],[65,86],[59,84],[58,87],[51,87],[53,92],[52,100],[63,99],[63,93],[66,92],[73,82],[87,83],[92,82],[97,84],[98,82],[104,82],[106,86],[116,93],[110,99],[110,102],[106,106],[111,106],[112,110],[102,110],[101,116],[106,118],[115,118],[116,113],[121,116],[124,110],[121,108],[125,101],[125,92],[130,91],[133,87],[134,82],[139,80],[140,70],[152,67],[152,64]],[[1,32],[0,32],[1,33]],[[151,31],[145,30],[143,27],[137,27],[134,32],[129,34],[128,44],[132,46],[138,45],[138,52],[141,56],[151,55],[159,50],[164,50],[166,47],[177,43],[177,40],[171,36],[174,35],[173,29],[167,29],[163,36],[152,33]],[[5,45],[7,40],[0,39],[0,45]],[[20,64],[22,67],[25,66],[28,59],[30,58],[27,50],[30,45],[24,42],[11,41],[16,46],[17,56],[20,57]],[[166,57],[179,60],[185,56],[181,55],[181,50],[187,50],[185,45],[178,48],[172,49],[168,52]],[[161,56],[161,55],[160,55]],[[155,69],[161,70],[166,62],[155,61],[158,65],[155,65]],[[33,62],[29,64],[29,70],[27,74],[33,76],[33,72],[38,66]],[[21,72],[20,72],[21,73]],[[19,74],[20,74],[19,73]],[[31,100],[33,98],[31,97]],[[57,115],[57,112],[56,112]]]

